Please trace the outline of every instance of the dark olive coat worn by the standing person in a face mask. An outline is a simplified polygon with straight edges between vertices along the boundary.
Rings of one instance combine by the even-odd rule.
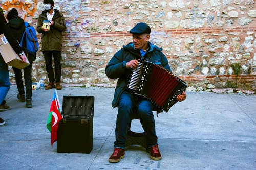
[[[44,20],[47,19],[46,10],[42,11],[42,13],[38,17],[37,21],[37,32],[42,33],[41,37],[41,50],[57,50],[61,51],[62,48],[62,32],[65,31],[66,23],[64,16],[59,12],[59,10],[54,9],[54,16],[52,21],[54,21],[54,25],[50,27],[49,31],[43,31],[41,26],[43,25]]]

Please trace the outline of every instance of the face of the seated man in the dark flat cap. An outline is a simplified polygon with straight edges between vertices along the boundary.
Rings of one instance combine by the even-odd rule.
[[[147,49],[147,42],[150,39],[149,34],[133,34],[133,45],[135,49]]]

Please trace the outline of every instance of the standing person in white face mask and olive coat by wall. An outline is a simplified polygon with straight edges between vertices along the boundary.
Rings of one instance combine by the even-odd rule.
[[[45,87],[46,90],[55,88],[54,82],[56,84],[56,89],[61,90],[60,77],[61,77],[61,48],[62,48],[62,32],[66,30],[65,18],[62,13],[53,9],[53,0],[44,0],[45,10],[38,17],[37,21],[37,32],[42,33],[41,36],[41,50],[44,54],[46,61],[46,71],[49,79],[48,86]],[[50,22],[50,29],[45,29],[44,22]],[[55,67],[55,77],[52,66],[52,56],[54,60]]]

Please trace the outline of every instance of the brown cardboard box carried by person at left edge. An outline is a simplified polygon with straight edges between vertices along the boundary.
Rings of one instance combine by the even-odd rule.
[[[9,66],[23,69],[27,67],[30,63],[26,58],[26,62],[22,62],[22,59],[17,55],[17,53],[13,50],[10,43],[7,41],[4,34],[0,35],[0,53],[5,60],[5,63]]]

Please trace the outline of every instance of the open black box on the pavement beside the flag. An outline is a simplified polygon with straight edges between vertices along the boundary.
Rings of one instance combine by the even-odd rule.
[[[90,153],[93,148],[93,96],[63,96],[57,152]]]

